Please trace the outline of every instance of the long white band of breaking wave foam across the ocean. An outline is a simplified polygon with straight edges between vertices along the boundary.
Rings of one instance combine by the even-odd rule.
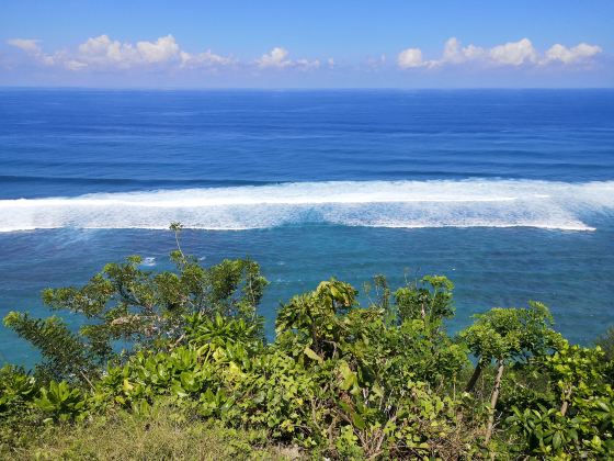
[[[614,210],[614,181],[332,181],[0,200],[0,232],[36,228],[248,229],[330,223],[376,227],[592,231]]]

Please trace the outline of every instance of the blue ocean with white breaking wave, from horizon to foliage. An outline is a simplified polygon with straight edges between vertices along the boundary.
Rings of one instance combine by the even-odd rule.
[[[548,304],[614,324],[614,91],[0,90],[0,315],[140,254],[171,221],[213,263],[251,256],[262,313],[331,276],[456,283],[456,330]],[[67,317],[77,325],[77,317]],[[32,363],[0,328],[0,361]]]

